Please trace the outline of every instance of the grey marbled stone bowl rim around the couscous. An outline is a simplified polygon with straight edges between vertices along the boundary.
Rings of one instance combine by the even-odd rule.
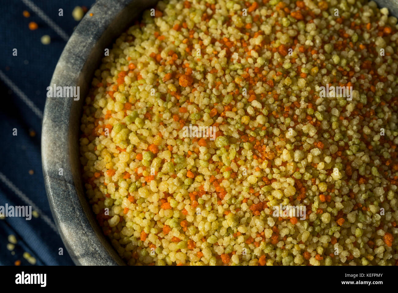
[[[105,48],[157,0],[98,0],[70,37],[51,86],[80,87],[80,99],[47,98],[41,155],[51,212],[76,265],[125,265],[103,235],[86,198],[79,154],[82,106]],[[398,16],[398,0],[376,0]],[[93,16],[90,16],[90,14]],[[62,168],[63,175],[59,175]]]

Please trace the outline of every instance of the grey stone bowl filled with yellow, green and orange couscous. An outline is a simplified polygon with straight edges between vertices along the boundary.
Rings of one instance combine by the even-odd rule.
[[[396,265],[396,2],[155,2],[98,1],[51,82],[76,264]]]

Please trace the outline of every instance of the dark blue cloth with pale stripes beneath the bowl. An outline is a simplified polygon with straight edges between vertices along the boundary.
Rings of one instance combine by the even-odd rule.
[[[23,257],[24,252],[36,259],[36,265],[73,265],[54,229],[40,155],[40,114],[44,110],[46,88],[66,41],[27,2],[33,2],[70,36],[78,25],[72,18],[74,7],[90,9],[94,0],[0,0],[0,206],[33,205],[32,210],[39,212],[31,220],[0,219],[0,265],[14,265],[17,260],[21,265],[30,265]],[[59,16],[60,8],[63,16]],[[24,10],[30,13],[28,18],[23,16]],[[36,22],[38,28],[31,31],[29,22]],[[49,45],[41,43],[43,35],[51,37]],[[17,56],[13,56],[14,48]],[[5,79],[16,87],[12,88]],[[28,100],[17,94],[18,88]],[[29,103],[37,110],[32,110],[35,106]],[[17,136],[13,136],[14,128]],[[32,175],[29,170],[33,170]],[[9,235],[17,238],[14,248],[9,245]],[[63,248],[62,256],[59,248]]]

